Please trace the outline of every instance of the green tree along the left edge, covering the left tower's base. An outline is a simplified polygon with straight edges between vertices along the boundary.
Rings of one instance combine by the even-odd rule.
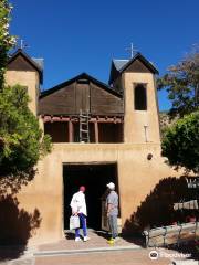
[[[17,191],[34,176],[39,159],[51,151],[50,136],[43,136],[38,118],[28,107],[27,88],[6,86],[8,52],[14,44],[9,34],[11,6],[0,1],[0,186]],[[13,191],[12,189],[12,191]]]

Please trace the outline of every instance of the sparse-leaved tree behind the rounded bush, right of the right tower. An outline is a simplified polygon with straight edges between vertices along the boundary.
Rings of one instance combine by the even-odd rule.
[[[157,82],[159,89],[168,92],[172,107],[169,116],[182,117],[199,109],[199,51],[196,47]]]

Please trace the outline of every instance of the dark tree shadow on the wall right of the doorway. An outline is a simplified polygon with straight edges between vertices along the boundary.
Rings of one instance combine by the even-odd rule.
[[[159,181],[154,190],[140,203],[125,222],[123,233],[129,235],[143,230],[149,230],[175,222],[186,222],[189,210],[174,210],[174,203],[193,199],[193,192],[187,188],[186,177],[168,177]],[[197,213],[196,213],[197,214]]]

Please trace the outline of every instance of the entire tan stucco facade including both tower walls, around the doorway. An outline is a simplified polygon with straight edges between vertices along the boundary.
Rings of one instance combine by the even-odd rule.
[[[36,114],[39,76],[34,72],[8,71],[7,83],[28,86],[31,110]],[[134,110],[134,83],[147,83],[147,112]],[[130,218],[140,202],[160,179],[174,171],[160,157],[159,124],[154,76],[147,73],[125,73],[125,144],[54,144],[53,150],[38,165],[34,180],[18,194],[19,208],[41,215],[41,225],[29,244],[53,242],[63,235],[63,163],[117,162],[122,224]],[[43,124],[40,119],[40,125]],[[144,125],[148,126],[145,142]],[[147,160],[147,155],[153,159]],[[70,203],[70,202],[69,202]],[[90,213],[88,213],[90,214]]]

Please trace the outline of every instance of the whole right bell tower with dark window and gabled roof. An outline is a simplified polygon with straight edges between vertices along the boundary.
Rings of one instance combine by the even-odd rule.
[[[124,142],[160,144],[156,74],[140,53],[112,63],[109,84],[124,97]]]

